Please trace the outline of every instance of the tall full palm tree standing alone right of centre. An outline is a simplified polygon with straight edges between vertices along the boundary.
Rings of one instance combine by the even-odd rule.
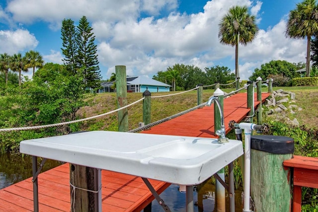
[[[239,43],[246,46],[254,40],[258,32],[255,15],[248,12],[247,6],[233,6],[219,24],[221,44],[235,46],[235,75],[239,78]],[[237,82],[237,88],[239,82]]]

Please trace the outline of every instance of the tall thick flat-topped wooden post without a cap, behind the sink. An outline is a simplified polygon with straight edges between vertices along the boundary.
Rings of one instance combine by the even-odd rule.
[[[116,70],[116,94],[117,108],[127,106],[127,79],[126,66],[115,66]],[[118,131],[127,132],[128,128],[128,109],[118,111]]]

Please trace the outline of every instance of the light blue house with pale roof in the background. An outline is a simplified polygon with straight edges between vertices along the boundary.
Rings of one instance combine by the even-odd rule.
[[[127,91],[128,92],[144,92],[149,90],[150,92],[167,92],[170,91],[171,85],[165,84],[155,79],[148,78],[146,76],[127,76]],[[113,82],[102,82],[99,89],[99,93],[102,92],[114,92],[112,88]]]

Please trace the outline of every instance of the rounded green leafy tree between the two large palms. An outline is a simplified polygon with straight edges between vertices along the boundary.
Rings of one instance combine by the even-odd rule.
[[[262,64],[260,69],[256,68],[249,80],[256,81],[257,77],[263,80],[270,78],[270,75],[281,74],[286,78],[294,78],[296,76],[297,66],[287,61],[270,61],[269,63]]]

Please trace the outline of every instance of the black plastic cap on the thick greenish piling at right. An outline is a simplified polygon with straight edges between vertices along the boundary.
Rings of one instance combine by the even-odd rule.
[[[250,147],[252,149],[273,153],[294,153],[294,139],[284,136],[251,136]]]

